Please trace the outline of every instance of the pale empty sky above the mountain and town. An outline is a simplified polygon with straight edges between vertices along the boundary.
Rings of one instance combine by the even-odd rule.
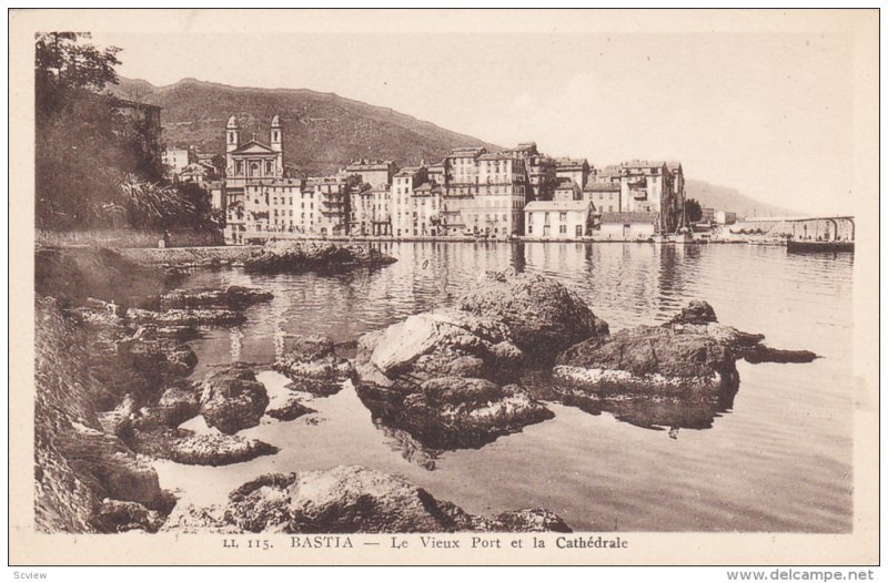
[[[122,48],[120,74],[155,85],[195,78],[311,89],[599,166],[677,160],[688,178],[806,214],[849,212],[858,194],[848,180],[855,38],[841,30],[484,30],[466,21],[458,32],[453,19],[442,30],[420,20],[320,32],[316,21],[223,31],[192,21],[185,31],[94,32],[93,42]]]

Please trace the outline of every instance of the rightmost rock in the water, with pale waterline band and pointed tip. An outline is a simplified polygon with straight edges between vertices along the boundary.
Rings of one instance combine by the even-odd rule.
[[[738,359],[816,357],[775,351],[763,339],[719,324],[712,306],[695,300],[663,326],[638,326],[572,346],[556,360],[554,388],[569,405],[613,410],[636,425],[708,427],[733,405]]]

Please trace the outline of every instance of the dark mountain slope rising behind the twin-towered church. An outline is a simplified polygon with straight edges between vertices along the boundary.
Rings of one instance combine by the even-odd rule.
[[[165,86],[122,78],[111,88],[121,98],[163,108],[163,139],[169,146],[195,145],[201,152],[225,152],[225,122],[236,115],[241,142],[255,134],[269,142],[272,116],[284,127],[287,164],[316,174],[351,160],[394,160],[401,166],[437,162],[457,146],[503,150],[475,137],[333,93],[306,89],[250,89],[183,79]]]

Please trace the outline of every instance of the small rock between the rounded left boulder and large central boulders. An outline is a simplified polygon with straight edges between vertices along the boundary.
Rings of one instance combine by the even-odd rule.
[[[293,381],[291,390],[320,397],[339,392],[342,382],[354,375],[352,364],[336,355],[333,340],[319,335],[286,337],[284,352],[275,361],[274,370]]]

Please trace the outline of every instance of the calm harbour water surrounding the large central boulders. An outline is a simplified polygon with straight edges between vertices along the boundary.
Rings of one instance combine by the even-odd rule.
[[[712,427],[638,427],[610,413],[552,403],[555,418],[480,450],[425,452],[374,426],[346,387],[295,421],[266,418],[242,431],[276,456],[224,467],[161,462],[164,488],[213,503],[269,471],[360,463],[398,473],[473,513],[545,507],[584,531],[810,531],[851,529],[851,256],[787,255],[747,245],[392,243],[400,258],[347,275],[198,272],[183,287],[248,285],[274,293],[248,323],[191,342],[208,365],[269,362],[283,335],[353,340],[430,308],[453,304],[484,270],[514,267],[561,279],[612,330],[668,319],[692,298],[722,323],[763,333],[767,344],[823,355],[809,365],[737,364],[740,389]],[[272,395],[285,382],[260,379]],[[668,416],[667,416],[668,417]],[[620,416],[624,419],[624,416]],[[201,420],[191,421],[196,427]],[[705,423],[708,425],[708,423]],[[704,426],[705,426],[704,425]],[[668,429],[666,427],[665,429]]]

